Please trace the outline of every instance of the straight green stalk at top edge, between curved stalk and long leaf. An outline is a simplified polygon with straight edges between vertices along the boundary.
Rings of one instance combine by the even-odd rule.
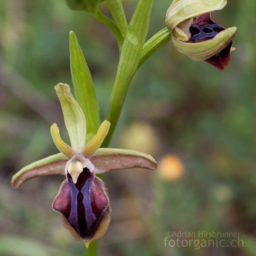
[[[105,2],[113,16],[113,19],[115,20],[117,26],[119,27],[123,38],[125,38],[128,24],[125,17],[125,11],[122,6],[122,1],[121,0],[105,0]]]

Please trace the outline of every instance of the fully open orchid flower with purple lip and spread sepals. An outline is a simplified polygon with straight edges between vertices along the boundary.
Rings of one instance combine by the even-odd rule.
[[[43,175],[66,175],[52,208],[61,214],[63,225],[86,247],[102,237],[110,223],[111,207],[103,181],[96,175],[127,168],[156,169],[153,157],[137,151],[99,148],[108,133],[105,120],[93,139],[86,143],[86,120],[67,84],[57,84],[71,146],[60,137],[58,126],[51,126],[52,139],[61,153],[31,163],[12,177],[17,189],[26,180]]]

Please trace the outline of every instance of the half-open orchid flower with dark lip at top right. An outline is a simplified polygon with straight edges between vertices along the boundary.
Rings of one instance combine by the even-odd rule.
[[[166,26],[174,47],[194,61],[207,61],[223,71],[230,61],[236,27],[224,29],[210,12],[224,8],[227,0],[173,0],[166,13]]]

